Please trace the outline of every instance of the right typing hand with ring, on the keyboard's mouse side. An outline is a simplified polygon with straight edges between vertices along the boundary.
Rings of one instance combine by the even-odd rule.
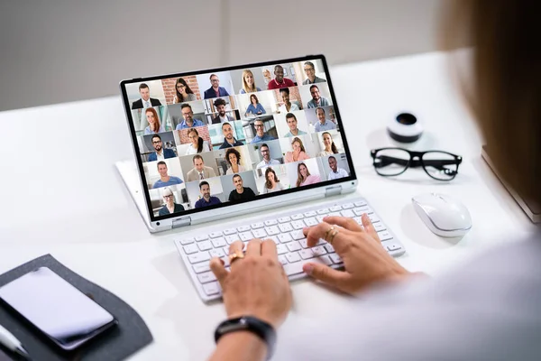
[[[314,246],[319,238],[325,239],[333,225],[338,226],[333,247],[343,259],[345,271],[325,264],[305,264],[303,270],[312,277],[343,292],[356,293],[373,282],[399,280],[411,274],[383,249],[366,214],[362,215],[362,227],[353,218],[327,217],[317,226],[304,228],[307,244]]]

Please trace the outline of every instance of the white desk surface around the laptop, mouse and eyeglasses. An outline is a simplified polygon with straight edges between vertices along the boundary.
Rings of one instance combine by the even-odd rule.
[[[406,245],[400,263],[432,274],[532,230],[481,160],[480,136],[447,74],[441,53],[332,69],[359,192]],[[438,182],[414,170],[396,179],[376,175],[369,150],[393,144],[385,125],[401,111],[426,127],[415,149],[463,155],[455,180]],[[142,315],[155,342],[134,360],[203,359],[225,311],[199,300],[173,234],[151,236],[144,227],[114,167],[133,157],[125,123],[120,97],[0,113],[0,273],[50,253]],[[472,231],[460,242],[430,233],[411,207],[412,196],[434,190],[470,209]],[[295,306],[285,328],[329,304],[349,304],[310,281],[292,289]]]

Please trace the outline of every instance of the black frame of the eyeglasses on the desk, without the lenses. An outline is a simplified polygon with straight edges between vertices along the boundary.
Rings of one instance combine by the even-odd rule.
[[[405,151],[405,152],[409,153],[409,160],[406,161],[407,162],[406,164],[404,164],[405,160],[403,160],[403,159],[398,159],[398,158],[394,158],[394,157],[390,157],[390,156],[385,156],[387,158],[393,158],[394,159],[393,162],[390,162],[390,163],[387,163],[387,164],[396,163],[396,164],[404,165],[405,167],[404,167],[403,171],[400,171],[399,173],[396,173],[396,174],[381,174],[381,172],[378,171],[378,168],[381,168],[381,162],[376,163],[376,154],[378,152],[387,151],[387,150],[399,150],[399,151]],[[433,160],[433,159],[423,160],[423,155],[425,155],[426,153],[445,153],[447,155],[451,155],[452,157],[454,157],[454,160]],[[423,167],[423,171],[425,171],[426,174],[428,174],[428,176],[430,178],[434,179],[434,180],[443,180],[443,181],[454,180],[454,177],[456,177],[456,174],[458,174],[458,166],[463,161],[462,156],[456,155],[456,154],[453,154],[453,153],[449,153],[449,152],[436,151],[436,150],[426,151],[426,152],[414,152],[414,151],[409,151],[408,149],[399,148],[399,147],[386,147],[386,148],[372,149],[370,151],[370,154],[371,154],[371,157],[372,157],[372,165],[374,166],[374,169],[382,177],[395,177],[397,175],[402,174],[404,171],[408,171],[408,168]],[[401,161],[401,162],[398,162],[398,161]],[[385,165],[387,165],[387,164],[385,164]],[[428,167],[433,167],[433,168],[436,168],[436,169],[439,169],[439,170],[443,170],[443,167],[445,165],[454,165],[454,164],[456,164],[456,170],[454,171],[454,174],[452,175],[452,178],[449,178],[449,179],[446,179],[446,180],[441,179],[441,178],[436,178],[432,174],[430,174],[429,171],[426,170],[427,166]]]

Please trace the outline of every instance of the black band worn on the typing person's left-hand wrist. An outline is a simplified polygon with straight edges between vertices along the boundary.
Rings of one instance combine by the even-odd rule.
[[[215,342],[218,343],[218,339],[234,331],[250,331],[259,336],[267,344],[267,359],[271,358],[276,344],[276,331],[270,324],[252,316],[226,319],[215,330]]]

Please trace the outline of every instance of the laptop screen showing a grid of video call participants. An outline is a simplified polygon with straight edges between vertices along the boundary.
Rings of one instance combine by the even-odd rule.
[[[323,56],[121,90],[153,221],[355,179]]]

